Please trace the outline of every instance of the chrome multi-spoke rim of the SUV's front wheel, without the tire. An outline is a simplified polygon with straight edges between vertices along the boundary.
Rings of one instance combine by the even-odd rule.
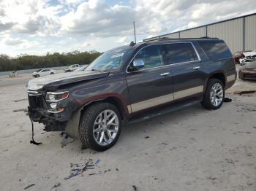
[[[101,146],[111,144],[116,138],[119,121],[116,112],[110,109],[104,110],[94,121],[94,140]]]

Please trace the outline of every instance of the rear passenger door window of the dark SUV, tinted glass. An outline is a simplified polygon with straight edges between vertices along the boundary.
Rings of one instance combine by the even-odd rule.
[[[165,64],[198,61],[194,47],[190,43],[164,44],[161,47]]]

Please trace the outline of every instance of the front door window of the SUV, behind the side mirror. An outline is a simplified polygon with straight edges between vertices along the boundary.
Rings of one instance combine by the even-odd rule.
[[[141,69],[150,69],[164,65],[157,45],[148,46],[140,50],[134,58],[134,61],[136,60],[144,61],[145,66]]]

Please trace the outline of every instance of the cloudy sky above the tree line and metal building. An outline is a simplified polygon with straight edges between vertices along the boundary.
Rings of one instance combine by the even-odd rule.
[[[255,0],[0,0],[0,54],[104,52],[256,12]]]

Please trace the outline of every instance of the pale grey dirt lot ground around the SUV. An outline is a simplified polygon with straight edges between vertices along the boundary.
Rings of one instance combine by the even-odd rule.
[[[31,123],[20,111],[29,78],[0,78],[1,190],[256,190],[256,93],[233,94],[256,82],[238,79],[227,91],[233,101],[217,111],[196,105],[128,125],[113,148],[93,152],[78,141],[61,148],[59,133],[39,124],[43,144],[29,143]],[[99,159],[94,169],[65,180],[70,163],[89,158]]]

